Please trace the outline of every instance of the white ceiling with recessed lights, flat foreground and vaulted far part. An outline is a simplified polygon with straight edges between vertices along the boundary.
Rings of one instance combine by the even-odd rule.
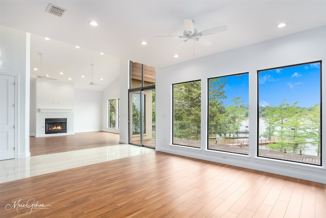
[[[45,12],[48,4],[62,7],[62,17]],[[326,25],[326,1],[6,1],[1,0],[1,25],[31,33],[31,74],[39,66],[42,74],[75,83],[91,80],[104,86],[119,76],[119,59],[162,67],[232,50]],[[207,36],[210,46],[182,39],[156,37],[182,35],[185,18],[195,21],[199,31],[227,26],[228,30]],[[98,22],[97,27],[89,25]],[[285,28],[276,28],[287,22]],[[50,40],[44,40],[49,37]],[[147,41],[141,45],[140,41]],[[76,49],[75,45],[80,48]],[[103,52],[104,55],[99,53]],[[173,55],[178,54],[178,58]],[[63,71],[64,75],[59,75]],[[81,78],[85,75],[85,78]],[[103,78],[103,81],[99,81]],[[84,87],[85,86],[85,87]]]

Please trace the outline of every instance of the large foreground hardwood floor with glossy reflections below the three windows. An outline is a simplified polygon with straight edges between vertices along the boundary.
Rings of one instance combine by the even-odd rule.
[[[161,152],[2,183],[0,196],[1,217],[326,214],[326,184]]]

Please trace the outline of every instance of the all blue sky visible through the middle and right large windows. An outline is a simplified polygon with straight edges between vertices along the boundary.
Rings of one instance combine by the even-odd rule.
[[[249,104],[249,74],[220,77],[227,79],[224,87],[227,99],[224,105],[231,105],[234,96],[241,96],[244,105]],[[320,103],[320,64],[303,64],[260,71],[258,75],[259,106],[278,106],[286,99],[292,105],[312,107]]]

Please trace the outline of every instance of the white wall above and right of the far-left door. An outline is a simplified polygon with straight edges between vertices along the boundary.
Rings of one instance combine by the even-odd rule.
[[[0,26],[0,69],[18,78],[15,158],[30,156],[30,34]]]

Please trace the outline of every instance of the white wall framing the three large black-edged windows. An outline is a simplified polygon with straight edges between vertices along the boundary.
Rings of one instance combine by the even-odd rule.
[[[323,60],[322,93],[325,93],[325,39],[326,26],[156,69],[156,150],[326,183],[326,148],[322,150],[322,166],[256,157],[257,70]],[[249,72],[249,156],[206,150],[207,78],[240,72]],[[172,145],[172,84],[192,80],[202,81],[201,149]],[[324,95],[322,100],[325,102]],[[326,115],[324,108],[323,116]],[[325,120],[323,127],[326,127]],[[323,128],[322,135],[325,133],[326,128]],[[323,146],[325,142],[323,137]]]

